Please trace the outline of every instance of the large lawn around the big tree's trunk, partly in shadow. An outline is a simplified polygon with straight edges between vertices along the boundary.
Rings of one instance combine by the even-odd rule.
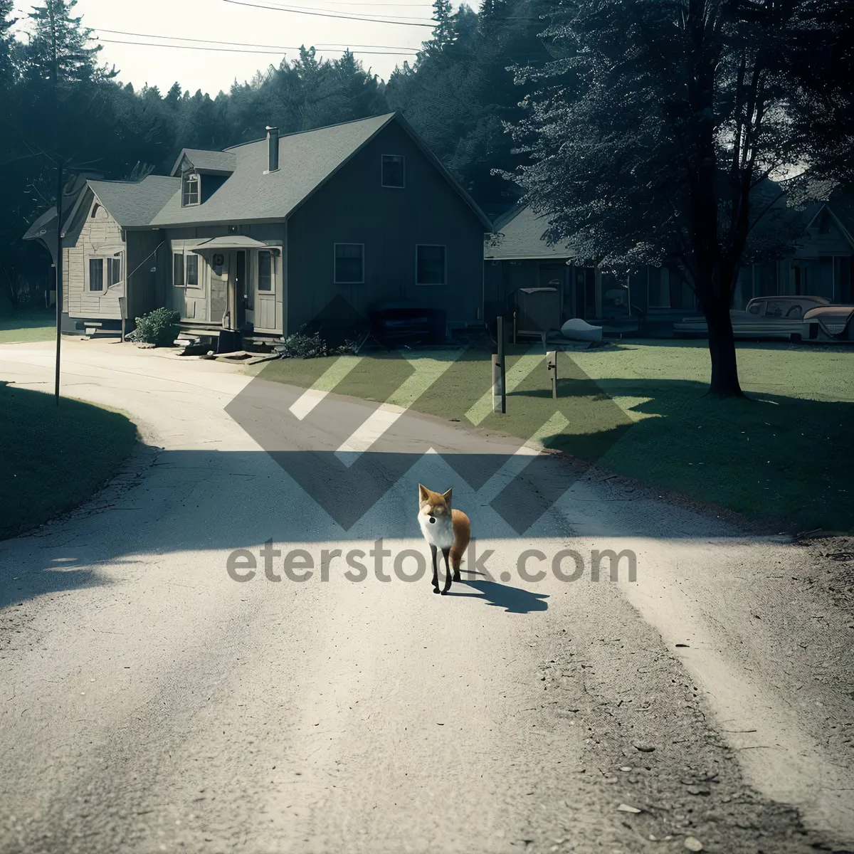
[[[559,354],[559,400],[543,361],[515,348],[508,377],[524,375],[507,396],[507,414],[484,413],[489,355],[467,351],[436,382],[409,383],[415,360],[453,354],[371,355],[340,382],[338,394],[398,402],[486,430],[540,438],[547,446],[599,462],[649,486],[675,489],[778,529],[854,530],[854,348],[743,344],[743,401],[705,397],[705,342],[620,342]],[[540,354],[541,359],[541,354]],[[248,368],[302,387],[321,379],[335,358],[277,360]],[[414,382],[414,381],[413,381]],[[509,385],[509,378],[508,378]],[[414,390],[413,390],[414,389]],[[398,395],[400,396],[400,395]],[[472,406],[474,405],[474,408]]]

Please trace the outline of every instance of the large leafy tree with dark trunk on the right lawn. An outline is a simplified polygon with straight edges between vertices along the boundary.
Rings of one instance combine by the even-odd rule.
[[[846,5],[570,0],[546,29],[555,60],[518,70],[535,91],[515,177],[550,237],[605,266],[678,255],[708,322],[714,395],[741,394],[729,307],[755,226],[787,184],[808,189],[793,172],[821,162],[833,177],[845,161]],[[806,116],[818,98],[823,137]]]

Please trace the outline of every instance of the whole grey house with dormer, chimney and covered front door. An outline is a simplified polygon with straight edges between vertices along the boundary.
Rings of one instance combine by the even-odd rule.
[[[131,319],[165,305],[184,329],[258,337],[377,301],[482,318],[492,226],[399,114],[184,149],[169,177],[87,181],[64,219],[68,330],[117,328],[120,296]]]

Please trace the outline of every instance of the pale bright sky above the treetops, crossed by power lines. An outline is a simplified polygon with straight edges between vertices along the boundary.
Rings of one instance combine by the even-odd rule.
[[[24,20],[15,30],[26,32],[32,5],[16,0],[15,16]],[[165,94],[177,80],[191,94],[201,89],[213,97],[235,79],[243,83],[278,65],[283,55],[295,57],[301,44],[329,57],[350,46],[366,69],[387,80],[430,38],[431,27],[417,25],[430,24],[431,7],[431,0],[79,0],[74,14],[94,31],[101,61],[115,65],[122,83],[137,90],[156,85]],[[206,48],[214,50],[200,50]]]

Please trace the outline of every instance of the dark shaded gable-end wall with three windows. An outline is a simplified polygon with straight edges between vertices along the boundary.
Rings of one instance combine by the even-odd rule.
[[[401,189],[381,184],[381,157],[405,157]],[[281,164],[283,169],[288,164]],[[410,300],[475,323],[483,307],[485,227],[395,122],[293,213],[287,228],[288,330],[346,324],[377,301]],[[335,243],[363,243],[363,284],[335,284]],[[446,283],[415,284],[418,243],[446,247]]]

